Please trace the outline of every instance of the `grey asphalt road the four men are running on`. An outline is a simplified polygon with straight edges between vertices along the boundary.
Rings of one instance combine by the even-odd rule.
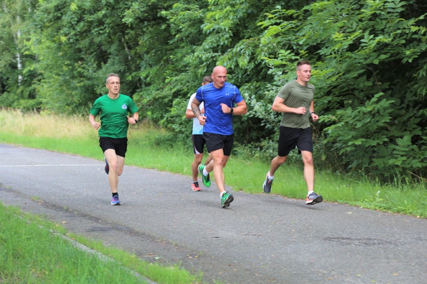
[[[263,178],[224,209],[215,182],[193,192],[189,176],[125,165],[112,206],[102,161],[0,145],[4,204],[209,283],[427,283],[426,219],[305,205],[262,193]]]

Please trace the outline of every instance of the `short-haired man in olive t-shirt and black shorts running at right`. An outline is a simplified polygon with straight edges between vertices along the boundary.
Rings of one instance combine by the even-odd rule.
[[[323,201],[322,195],[315,193],[313,136],[309,117],[317,121],[319,116],[314,112],[314,85],[308,81],[311,77],[311,66],[308,60],[297,63],[297,79],[286,83],[274,99],[272,109],[283,112],[280,123],[278,154],[271,161],[270,171],[263,184],[264,192],[271,191],[274,173],[288,157],[289,152],[297,146],[304,162],[304,178],[307,183],[306,204],[312,205]]]

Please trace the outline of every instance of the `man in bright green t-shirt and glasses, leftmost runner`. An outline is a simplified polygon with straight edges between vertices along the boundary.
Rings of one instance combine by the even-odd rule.
[[[108,94],[98,97],[90,109],[89,122],[98,130],[99,146],[105,156],[105,172],[108,174],[113,198],[111,205],[120,205],[117,184],[123,172],[127,151],[127,129],[138,122],[138,108],[127,95],[119,93],[120,77],[108,74],[105,86]],[[95,117],[101,113],[101,123]],[[130,113],[130,115],[128,115]]]

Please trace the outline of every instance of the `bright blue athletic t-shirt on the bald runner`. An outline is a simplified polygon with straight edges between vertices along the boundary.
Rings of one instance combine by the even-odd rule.
[[[233,131],[233,114],[224,113],[221,103],[234,107],[243,97],[237,86],[225,82],[222,88],[213,86],[213,82],[199,87],[196,91],[196,99],[204,103],[204,115],[206,123],[203,132],[231,135]]]

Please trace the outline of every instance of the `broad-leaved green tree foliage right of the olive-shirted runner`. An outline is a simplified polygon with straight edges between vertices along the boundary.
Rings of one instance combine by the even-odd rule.
[[[406,5],[318,1],[262,23],[266,42],[285,45],[280,59],[268,59],[280,75],[295,55],[313,62],[323,155],[339,153],[337,166],[425,174],[426,28],[424,14],[409,17]]]

